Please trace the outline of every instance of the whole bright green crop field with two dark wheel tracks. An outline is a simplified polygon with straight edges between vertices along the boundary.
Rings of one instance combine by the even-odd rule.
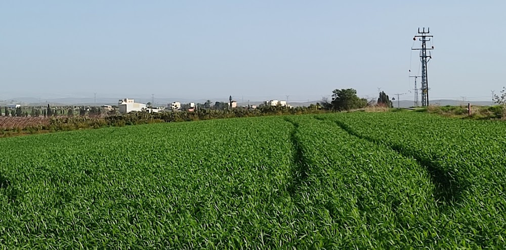
[[[506,123],[416,112],[0,140],[0,248],[506,247]]]

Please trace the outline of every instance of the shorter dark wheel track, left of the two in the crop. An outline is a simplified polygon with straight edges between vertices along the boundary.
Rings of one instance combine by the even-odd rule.
[[[291,170],[291,183],[287,190],[291,196],[294,196],[297,189],[302,183],[308,178],[309,164],[307,159],[304,157],[302,145],[299,142],[296,134],[299,130],[299,123],[285,118],[285,121],[290,122],[293,125],[293,130],[290,133],[290,141],[293,146],[293,168]]]

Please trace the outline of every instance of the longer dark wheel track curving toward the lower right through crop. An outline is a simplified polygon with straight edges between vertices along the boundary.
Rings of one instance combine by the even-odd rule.
[[[318,120],[325,120],[324,118],[317,116],[315,116],[315,118]],[[462,185],[461,183],[459,183],[457,176],[452,171],[446,171],[441,169],[441,166],[439,166],[433,160],[428,159],[427,157],[422,156],[420,154],[417,154],[412,150],[408,150],[402,145],[384,143],[383,141],[378,140],[376,138],[360,135],[357,132],[353,131],[353,129],[351,129],[347,124],[345,124],[342,121],[338,120],[331,120],[331,121],[335,122],[335,124],[337,124],[341,129],[343,129],[352,136],[369,141],[378,146],[390,148],[391,150],[396,151],[397,153],[402,155],[403,157],[413,158],[414,160],[416,160],[416,162],[420,166],[423,166],[427,170],[427,172],[431,177],[431,182],[435,186],[434,199],[438,206],[445,206],[458,201],[458,198],[462,191],[461,188]]]

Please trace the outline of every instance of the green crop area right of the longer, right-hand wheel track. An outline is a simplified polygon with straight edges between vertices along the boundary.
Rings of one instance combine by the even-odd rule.
[[[443,226],[434,227],[447,245],[505,246],[506,124],[414,112],[319,117],[425,165],[439,189],[435,198],[444,204]]]

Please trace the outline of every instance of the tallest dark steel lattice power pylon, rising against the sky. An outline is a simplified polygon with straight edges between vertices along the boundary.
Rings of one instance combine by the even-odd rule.
[[[418,34],[413,37],[413,40],[416,40],[416,37],[418,37],[418,40],[421,41],[421,48],[411,49],[411,50],[420,50],[420,61],[421,61],[421,106],[429,106],[429,82],[427,80],[427,62],[431,60],[432,56],[430,54],[431,50],[434,50],[434,46],[431,48],[427,48],[426,42],[430,41],[433,37],[432,35],[429,35],[430,29],[427,28],[427,32],[425,31],[425,28],[423,28],[422,31],[420,31],[420,28],[418,28]],[[429,55],[427,55],[427,51],[429,51]]]

